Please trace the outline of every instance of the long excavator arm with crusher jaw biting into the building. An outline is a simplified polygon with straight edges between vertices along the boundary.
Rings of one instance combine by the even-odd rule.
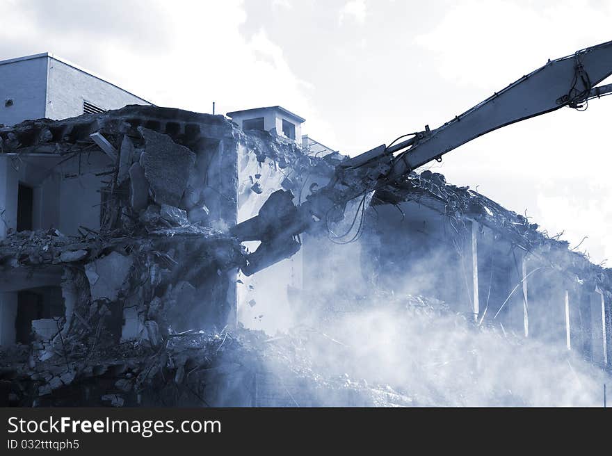
[[[612,84],[597,87],[611,74],[612,41],[549,60],[437,129],[426,126],[424,131],[405,135],[409,139],[380,145],[342,162],[329,184],[303,204],[296,206],[290,191],[278,190],[259,215],[232,229],[241,241],[261,241],[243,272],[251,275],[291,257],[300,248],[299,234],[341,220],[351,199],[403,179],[430,161],[441,161],[442,155],[478,136],[564,106],[581,109],[589,99],[611,94]]]

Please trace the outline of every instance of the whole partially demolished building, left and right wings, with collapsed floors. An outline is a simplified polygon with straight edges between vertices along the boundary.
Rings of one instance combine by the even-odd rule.
[[[244,329],[258,328],[266,299],[297,316],[287,325],[330,328],[375,290],[426,296],[475,326],[609,368],[611,272],[441,174],[377,190],[356,242],[305,234],[291,259],[242,275],[252,246],[228,228],[280,188],[302,201],[342,159],[221,115],[154,106],[0,127],[8,403],[410,405],[316,375],[293,373],[281,388],[257,361],[275,353],[270,339]],[[276,353],[291,371],[292,358]],[[332,402],[305,397],[321,388]]]

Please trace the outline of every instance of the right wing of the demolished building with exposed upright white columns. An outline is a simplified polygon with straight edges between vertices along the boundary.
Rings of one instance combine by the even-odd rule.
[[[378,192],[372,210],[385,220],[373,225],[367,247],[381,287],[397,289],[389,277],[403,270],[419,277],[403,291],[469,303],[453,310],[478,325],[565,345],[608,368],[611,271],[568,249],[561,234],[548,236],[524,216],[430,171]],[[428,261],[403,261],[411,256]]]

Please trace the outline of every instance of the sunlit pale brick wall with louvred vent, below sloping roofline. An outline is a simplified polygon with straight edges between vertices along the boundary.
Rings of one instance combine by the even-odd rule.
[[[49,58],[46,117],[65,119],[81,115],[83,100],[104,109],[122,108],[127,104],[150,104],[111,83]]]

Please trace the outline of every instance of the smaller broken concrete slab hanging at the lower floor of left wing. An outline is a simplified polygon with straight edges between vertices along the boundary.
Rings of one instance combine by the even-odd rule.
[[[106,257],[86,264],[85,274],[89,280],[91,299],[116,300],[133,261],[132,257],[111,252]]]

